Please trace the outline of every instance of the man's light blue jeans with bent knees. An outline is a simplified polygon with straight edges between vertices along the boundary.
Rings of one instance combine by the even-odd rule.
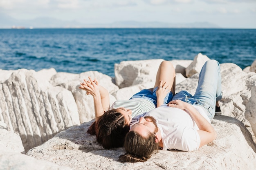
[[[207,110],[207,116],[211,120],[215,115],[216,101],[221,98],[220,64],[216,60],[208,60],[200,72],[195,95],[180,91],[173,96],[172,100],[180,99],[189,104],[202,106]]]

